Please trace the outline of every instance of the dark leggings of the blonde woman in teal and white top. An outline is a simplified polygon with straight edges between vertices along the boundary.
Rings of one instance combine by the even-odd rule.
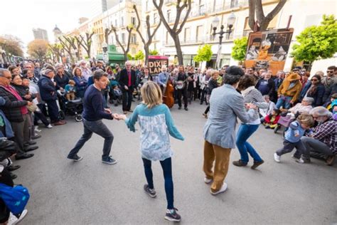
[[[154,180],[152,179],[151,160],[143,159],[144,171],[147,184],[150,189],[154,189]],[[167,200],[167,209],[173,209],[173,179],[172,179],[172,163],[171,157],[160,161],[161,168],[163,169],[165,179],[165,193]]]

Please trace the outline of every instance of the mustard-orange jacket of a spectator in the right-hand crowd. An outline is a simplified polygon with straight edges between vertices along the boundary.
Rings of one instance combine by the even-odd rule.
[[[282,84],[279,86],[279,90],[277,90],[277,95],[285,95],[292,97],[292,101],[296,101],[299,98],[299,94],[301,93],[302,84],[301,76],[297,73],[290,73],[287,78],[285,78]],[[295,83],[295,85],[289,88],[291,83]]]

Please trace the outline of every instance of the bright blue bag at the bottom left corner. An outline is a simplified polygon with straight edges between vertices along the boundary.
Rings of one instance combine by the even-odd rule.
[[[12,214],[21,214],[30,195],[26,187],[21,185],[10,187],[0,183],[0,197]]]

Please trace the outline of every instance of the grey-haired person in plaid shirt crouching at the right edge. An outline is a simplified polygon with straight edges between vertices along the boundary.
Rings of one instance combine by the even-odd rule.
[[[326,164],[331,166],[335,162],[337,154],[337,121],[333,120],[332,113],[323,106],[312,109],[310,113],[319,125],[314,128],[311,137],[301,138],[306,147],[302,157],[310,160],[310,152],[319,152],[326,155]]]

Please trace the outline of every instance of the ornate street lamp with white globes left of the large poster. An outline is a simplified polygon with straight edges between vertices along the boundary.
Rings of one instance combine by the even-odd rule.
[[[220,64],[221,46],[223,44],[223,35],[225,33],[228,33],[228,38],[230,37],[230,33],[232,33],[233,24],[235,23],[235,19],[236,19],[235,14],[232,12],[230,14],[230,16],[228,16],[228,19],[227,19],[227,26],[228,26],[227,31],[223,31],[223,29],[225,28],[225,26],[221,25],[219,32],[216,32],[216,29],[219,26],[220,19],[218,18],[218,16],[215,16],[215,18],[212,21],[213,38],[215,38],[215,35],[219,34],[218,56],[216,57],[216,63],[215,63],[216,68],[220,68],[219,64]]]

